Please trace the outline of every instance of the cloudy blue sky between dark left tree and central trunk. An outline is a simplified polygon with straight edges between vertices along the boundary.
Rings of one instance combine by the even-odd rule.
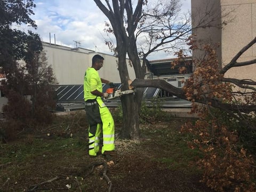
[[[190,0],[180,1],[182,11],[190,11]],[[51,43],[113,54],[105,45],[105,39],[109,38],[103,31],[108,19],[93,0],[34,0],[34,3],[35,14],[31,19],[36,21],[36,33],[42,41],[49,43],[51,36]]]

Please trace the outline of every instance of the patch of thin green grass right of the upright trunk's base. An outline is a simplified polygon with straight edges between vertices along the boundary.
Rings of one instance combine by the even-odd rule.
[[[174,129],[171,127],[171,124],[175,125],[178,121],[185,123],[187,119],[172,118],[171,123],[165,122],[165,124],[161,124],[162,127],[159,129],[152,127],[152,129],[147,128],[142,129],[142,131],[146,137],[156,140],[160,153],[158,158],[155,158],[156,162],[166,164],[173,171],[183,169],[187,170],[188,173],[199,173],[200,171],[196,168],[195,162],[198,158],[202,158],[202,151],[188,148],[187,141],[190,140],[191,135],[180,133],[180,124],[177,125],[177,129],[175,129],[175,126]],[[194,121],[194,119],[189,119],[189,121]]]

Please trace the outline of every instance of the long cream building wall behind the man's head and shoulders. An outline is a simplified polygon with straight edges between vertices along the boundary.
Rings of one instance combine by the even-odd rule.
[[[55,46],[49,43],[43,43],[43,47],[46,52],[47,62],[52,66],[60,85],[83,84],[85,70],[92,66],[92,57],[95,54],[100,54],[105,59],[103,67],[99,70],[100,77],[114,83],[121,82],[117,58],[112,55],[81,48],[71,49],[65,46]],[[132,80],[135,79],[134,70],[129,65],[128,71],[130,78]]]

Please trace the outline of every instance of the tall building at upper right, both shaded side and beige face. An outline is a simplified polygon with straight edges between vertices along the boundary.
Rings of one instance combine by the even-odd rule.
[[[198,23],[202,15],[211,4],[215,5],[214,9],[219,7],[220,19],[215,25],[221,23],[223,20],[230,20],[226,26],[218,29],[216,27],[194,30],[198,39],[203,39],[205,42],[220,43],[218,49],[218,59],[220,65],[225,66],[230,60],[240,51],[246,44],[248,44],[256,36],[256,0],[191,0],[191,13],[193,19],[193,26]],[[201,13],[198,13],[198,10]],[[227,12],[230,12],[228,17],[223,17]],[[193,52],[194,57],[202,52]],[[239,61],[247,61],[256,58],[256,45],[247,50]],[[226,73],[226,77],[243,79],[251,78],[256,80],[256,66],[244,66],[230,69]]]

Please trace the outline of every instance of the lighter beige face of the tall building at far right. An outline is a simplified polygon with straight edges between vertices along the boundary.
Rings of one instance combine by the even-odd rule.
[[[222,29],[222,65],[231,59],[256,36],[256,0],[222,0],[222,11],[231,11],[233,21]],[[239,61],[256,58],[256,46],[247,50]],[[246,74],[246,76],[244,76]],[[256,66],[244,66],[228,71],[226,77],[243,79],[250,77],[256,81]]]

